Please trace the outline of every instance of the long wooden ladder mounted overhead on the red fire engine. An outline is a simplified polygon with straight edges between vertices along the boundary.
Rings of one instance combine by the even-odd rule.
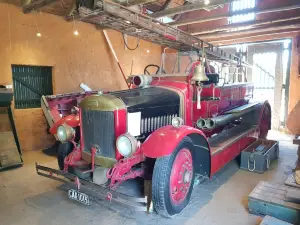
[[[79,8],[79,19],[86,23],[101,25],[121,33],[167,46],[178,51],[197,51],[205,48],[208,60],[237,66],[248,66],[236,55],[226,54],[222,49],[156,19],[107,0],[99,0],[94,9]]]

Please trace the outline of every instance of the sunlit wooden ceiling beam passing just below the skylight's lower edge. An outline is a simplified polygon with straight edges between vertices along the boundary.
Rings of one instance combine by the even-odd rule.
[[[263,20],[263,21],[251,21],[251,22],[246,22],[246,23],[234,23],[234,24],[229,24],[225,26],[220,26],[214,29],[201,29],[199,28],[191,28],[188,29],[188,32],[192,35],[202,35],[202,34],[213,34],[216,32],[232,32],[236,30],[249,30],[253,29],[257,26],[263,26],[263,25],[270,25],[270,24],[275,24],[275,23],[281,23],[281,22],[288,22],[288,21],[293,21],[293,20],[299,20],[300,16],[297,17],[288,17],[288,18],[282,18],[282,19],[277,19],[277,20]]]

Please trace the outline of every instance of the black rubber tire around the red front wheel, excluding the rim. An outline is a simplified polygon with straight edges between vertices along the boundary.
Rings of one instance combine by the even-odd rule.
[[[173,153],[169,156],[164,156],[156,159],[152,176],[152,200],[155,211],[164,217],[172,217],[180,213],[189,203],[193,191],[195,180],[195,160],[193,160],[193,174],[190,189],[186,198],[179,205],[174,205],[170,197],[170,176],[178,152],[186,148],[190,150],[194,159],[194,146],[190,138],[184,138]]]

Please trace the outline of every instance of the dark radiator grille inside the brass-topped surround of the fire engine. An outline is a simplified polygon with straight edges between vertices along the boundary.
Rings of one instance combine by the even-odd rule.
[[[81,109],[84,151],[98,147],[97,155],[115,158],[114,113]]]

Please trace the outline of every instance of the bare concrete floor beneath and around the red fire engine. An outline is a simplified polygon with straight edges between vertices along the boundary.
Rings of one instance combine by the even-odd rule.
[[[0,224],[256,225],[261,218],[248,214],[247,196],[261,180],[283,183],[297,157],[292,137],[271,132],[269,139],[280,140],[280,158],[268,172],[261,175],[239,170],[232,161],[212,180],[197,185],[189,206],[173,219],[134,212],[106,201],[88,207],[71,201],[65,191],[57,188],[59,182],[35,172],[34,162],[56,168],[56,159],[42,152],[25,152],[23,167],[0,173]]]

